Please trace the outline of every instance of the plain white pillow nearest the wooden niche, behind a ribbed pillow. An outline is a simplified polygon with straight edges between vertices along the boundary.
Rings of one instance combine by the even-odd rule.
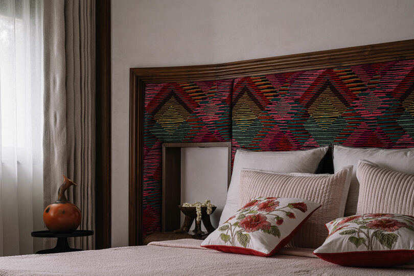
[[[277,173],[314,173],[328,147],[297,151],[246,151],[238,149],[234,157],[233,174],[228,187],[226,204],[219,224],[239,210],[240,172],[242,168],[272,171]]]

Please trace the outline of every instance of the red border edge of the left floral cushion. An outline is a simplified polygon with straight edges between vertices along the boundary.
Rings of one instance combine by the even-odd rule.
[[[231,246],[231,245],[201,245],[201,247],[205,247],[205,248],[209,248],[209,249],[214,249],[217,251],[222,251],[222,252],[228,252],[228,253],[236,253],[236,254],[244,254],[244,255],[255,255],[255,256],[260,256],[260,257],[269,257],[269,256],[273,256],[274,254],[276,254],[276,252],[278,252],[280,249],[282,249],[286,244],[288,244],[288,242],[293,238],[293,236],[302,228],[302,225],[308,220],[308,218],[313,214],[313,212],[315,212],[316,210],[318,210],[320,208],[319,205],[318,208],[316,208],[315,210],[313,210],[306,218],[304,218],[301,223],[299,223],[292,232],[290,232],[290,234],[284,238],[283,240],[281,240],[274,248],[273,250],[270,251],[269,254],[265,254],[263,252],[254,250],[254,249],[250,249],[250,248],[244,248],[244,247],[239,247],[239,246]]]

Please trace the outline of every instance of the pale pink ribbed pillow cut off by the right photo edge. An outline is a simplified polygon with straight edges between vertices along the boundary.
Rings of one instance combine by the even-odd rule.
[[[382,169],[360,160],[357,169],[357,214],[396,213],[414,216],[414,175]]]

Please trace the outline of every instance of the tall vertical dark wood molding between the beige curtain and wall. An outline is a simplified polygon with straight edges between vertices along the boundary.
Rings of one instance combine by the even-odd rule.
[[[111,247],[111,2],[96,2],[96,249]]]

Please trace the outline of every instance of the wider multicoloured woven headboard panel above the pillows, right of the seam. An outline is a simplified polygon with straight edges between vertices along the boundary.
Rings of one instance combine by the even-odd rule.
[[[239,78],[233,151],[414,146],[414,61]]]

